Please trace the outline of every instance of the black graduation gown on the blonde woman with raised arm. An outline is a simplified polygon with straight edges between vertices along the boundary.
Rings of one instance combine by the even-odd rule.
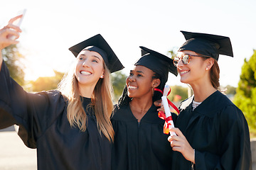
[[[9,77],[6,64],[0,94],[0,128],[20,126],[18,135],[26,146],[37,148],[38,170],[110,170],[111,144],[98,132],[94,113],[87,111],[85,132],[70,127],[68,103],[59,91],[26,93]],[[83,98],[84,108],[89,103],[90,98]]]

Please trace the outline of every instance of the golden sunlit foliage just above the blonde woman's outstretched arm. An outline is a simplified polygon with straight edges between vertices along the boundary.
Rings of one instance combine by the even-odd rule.
[[[61,79],[63,78],[63,72],[57,72],[53,70],[55,73],[54,77],[39,77],[36,81],[30,81],[30,86],[27,88],[29,91],[48,91],[56,89]]]

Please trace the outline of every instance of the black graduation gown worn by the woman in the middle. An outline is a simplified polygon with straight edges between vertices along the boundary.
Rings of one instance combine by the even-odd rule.
[[[154,104],[140,123],[129,106],[114,108],[112,170],[171,169],[171,145]]]

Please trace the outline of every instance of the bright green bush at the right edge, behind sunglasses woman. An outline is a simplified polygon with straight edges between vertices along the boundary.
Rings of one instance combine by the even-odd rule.
[[[256,136],[256,50],[242,65],[240,81],[233,100],[247,119],[252,136]]]

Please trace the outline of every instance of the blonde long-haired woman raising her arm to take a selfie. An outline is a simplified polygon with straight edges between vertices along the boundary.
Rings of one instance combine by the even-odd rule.
[[[0,29],[0,50],[17,40],[21,29],[12,18]],[[110,170],[114,130],[110,73],[123,68],[100,34],[69,49],[75,65],[58,90],[23,91],[3,62],[0,51],[0,128],[19,125],[27,147],[37,149],[38,170]],[[14,160],[15,162],[15,160]]]

